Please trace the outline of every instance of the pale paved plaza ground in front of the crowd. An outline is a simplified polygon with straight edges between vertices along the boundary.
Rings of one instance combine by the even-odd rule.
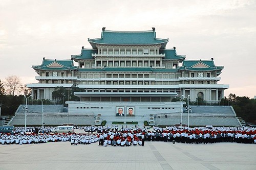
[[[70,142],[0,145],[0,169],[255,169],[256,145],[145,142],[141,147],[70,145]]]

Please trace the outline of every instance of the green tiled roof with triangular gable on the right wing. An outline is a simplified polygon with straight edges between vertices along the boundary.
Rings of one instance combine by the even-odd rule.
[[[214,71],[218,70],[219,74],[223,69],[223,66],[216,66],[214,60],[184,60],[179,70],[189,71]]]

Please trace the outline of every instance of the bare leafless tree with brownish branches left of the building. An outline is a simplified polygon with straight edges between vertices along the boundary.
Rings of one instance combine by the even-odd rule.
[[[18,90],[21,86],[19,77],[12,75],[8,76],[5,80],[6,81],[4,84],[6,87],[7,94],[14,95],[15,93],[19,92]]]

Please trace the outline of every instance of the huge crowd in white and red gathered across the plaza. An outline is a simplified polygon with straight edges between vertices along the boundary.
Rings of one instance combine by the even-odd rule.
[[[256,143],[256,129],[249,127],[75,127],[84,133],[50,133],[53,127],[15,127],[12,133],[0,133],[1,144],[70,142],[71,145],[98,143],[99,146],[144,146],[145,141],[206,144],[216,142]]]

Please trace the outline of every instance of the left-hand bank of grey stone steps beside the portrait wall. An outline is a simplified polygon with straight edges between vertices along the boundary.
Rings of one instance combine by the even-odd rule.
[[[27,126],[40,126],[42,122],[42,105],[27,105]],[[71,114],[63,105],[44,105],[44,126],[56,126],[63,124],[94,125],[94,114]],[[14,118],[9,122],[10,126],[25,125],[25,105],[20,105]]]

